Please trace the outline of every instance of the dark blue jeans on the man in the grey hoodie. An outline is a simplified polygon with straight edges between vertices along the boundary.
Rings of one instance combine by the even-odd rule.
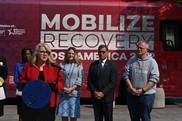
[[[150,113],[154,104],[155,94],[134,96],[127,94],[127,104],[131,121],[151,121]]]

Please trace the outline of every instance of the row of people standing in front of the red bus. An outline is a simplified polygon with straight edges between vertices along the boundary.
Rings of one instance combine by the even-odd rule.
[[[128,61],[121,75],[128,86],[127,104],[131,121],[151,120],[159,70],[148,50],[148,43],[139,41],[138,53]],[[118,67],[108,59],[108,53],[106,45],[98,47],[99,60],[90,64],[87,77],[95,121],[113,121]],[[22,62],[16,64],[14,71],[19,121],[55,121],[56,115],[61,116],[62,121],[77,121],[80,118],[80,89],[84,69],[76,48],[69,47],[64,60],[57,65],[50,47],[45,43],[38,44],[34,53],[30,48],[22,50]],[[53,83],[50,85],[50,102],[40,109],[31,108],[22,101],[22,83],[32,80]]]

